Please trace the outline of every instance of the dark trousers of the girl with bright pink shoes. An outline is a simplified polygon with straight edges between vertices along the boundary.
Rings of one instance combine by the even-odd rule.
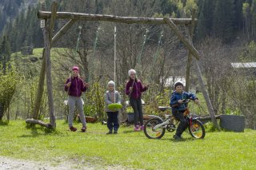
[[[130,98],[130,105],[134,109],[134,125],[138,125],[138,119],[140,125],[143,125],[143,113],[142,113],[142,100],[141,97],[138,99]]]

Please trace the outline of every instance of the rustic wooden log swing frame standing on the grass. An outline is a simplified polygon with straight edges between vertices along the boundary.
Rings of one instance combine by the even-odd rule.
[[[114,15],[105,15],[105,14],[82,14],[82,13],[70,13],[70,12],[57,12],[58,3],[56,1],[52,2],[51,11],[45,11],[45,4],[42,3],[42,10],[38,11],[38,18],[41,19],[45,23],[43,27],[43,40],[44,40],[44,49],[42,51],[42,67],[40,71],[40,77],[38,82],[38,92],[36,101],[34,103],[34,113],[33,119],[27,119],[26,123],[29,124],[37,124],[45,126],[46,128],[56,128],[56,119],[54,115],[54,97],[53,97],[53,89],[52,89],[52,77],[51,77],[51,61],[50,61],[50,49],[55,42],[58,42],[58,39],[62,37],[63,34],[70,29],[71,26],[74,25],[75,22],[79,20],[83,21],[102,21],[102,22],[118,22],[118,23],[126,23],[126,24],[158,24],[158,25],[166,25],[170,27],[170,30],[174,32],[174,34],[178,37],[178,39],[186,46],[189,50],[188,61],[186,65],[186,91],[189,89],[190,85],[190,65],[192,61],[194,61],[196,73],[198,76],[198,80],[200,86],[202,88],[203,96],[206,100],[206,105],[208,111],[210,113],[211,121],[214,123],[214,127],[218,128],[218,122],[216,121],[216,117],[214,114],[213,106],[210,102],[210,97],[206,92],[206,87],[204,81],[202,79],[201,69],[198,65],[199,53],[197,49],[194,48],[192,43],[192,36],[194,32],[194,25],[197,21],[194,18],[194,11],[192,18],[142,18],[142,17],[120,17]],[[63,26],[56,34],[54,32],[54,26],[57,19],[65,19],[68,20],[66,25]],[[186,36],[188,39],[184,37],[184,35],[178,30],[177,25],[186,26]],[[192,56],[195,57],[193,60]],[[43,85],[46,77],[46,87],[48,94],[48,105],[49,105],[49,115],[50,115],[50,123],[44,123],[42,121],[38,121],[38,113],[39,108],[42,101],[42,93],[43,93]]]

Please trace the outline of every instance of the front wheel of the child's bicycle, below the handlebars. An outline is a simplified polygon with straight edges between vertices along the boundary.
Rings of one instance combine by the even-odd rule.
[[[193,120],[192,125],[189,126],[190,135],[197,139],[203,139],[206,136],[205,127],[201,121]]]

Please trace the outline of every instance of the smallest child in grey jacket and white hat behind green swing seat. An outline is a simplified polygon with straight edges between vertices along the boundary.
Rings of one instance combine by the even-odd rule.
[[[121,104],[121,96],[118,91],[114,91],[114,81],[109,81],[108,90],[105,93],[105,108],[107,114],[107,128],[109,128],[109,132],[106,134],[112,134],[114,129],[114,134],[118,133],[119,123],[118,123],[118,109],[111,110],[108,108],[108,105],[112,103]]]

